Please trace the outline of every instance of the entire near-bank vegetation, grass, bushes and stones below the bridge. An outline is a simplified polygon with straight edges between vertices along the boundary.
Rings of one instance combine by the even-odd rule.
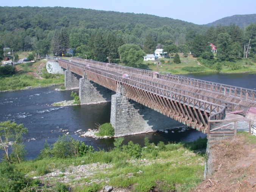
[[[109,185],[119,191],[174,192],[200,183],[206,139],[155,145],[145,138],[143,147],[123,140],[115,138],[109,151],[96,151],[69,135],[53,145],[45,142],[35,160],[0,163],[0,191],[92,192]]]

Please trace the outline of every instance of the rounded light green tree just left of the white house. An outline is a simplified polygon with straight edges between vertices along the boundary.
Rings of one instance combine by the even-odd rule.
[[[145,52],[135,44],[124,44],[118,48],[120,60],[126,66],[139,67],[143,62]]]

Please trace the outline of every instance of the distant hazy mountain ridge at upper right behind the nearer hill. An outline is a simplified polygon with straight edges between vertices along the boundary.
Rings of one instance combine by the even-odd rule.
[[[230,17],[224,17],[222,19],[218,19],[212,23],[208,23],[206,27],[216,27],[217,25],[230,25],[234,23],[238,25],[240,28],[245,28],[247,25],[251,23],[256,23],[256,14],[247,14],[247,15],[234,15]]]

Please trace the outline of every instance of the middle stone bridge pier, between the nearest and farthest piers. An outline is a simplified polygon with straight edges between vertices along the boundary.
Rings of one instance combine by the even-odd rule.
[[[79,81],[79,98],[81,105],[92,103],[105,103],[111,101],[115,92],[87,79],[85,75]]]

